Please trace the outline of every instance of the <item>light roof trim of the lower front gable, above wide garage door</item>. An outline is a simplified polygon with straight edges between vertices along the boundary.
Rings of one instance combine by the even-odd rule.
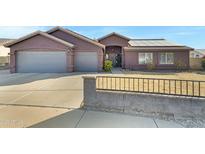
[[[49,35],[49,34],[47,34],[47,33],[41,32],[41,31],[36,31],[36,32],[33,32],[33,33],[28,34],[28,35],[26,35],[26,36],[23,36],[23,37],[21,37],[21,38],[19,38],[19,39],[17,39],[17,40],[14,40],[14,41],[5,43],[4,46],[5,46],[5,47],[10,47],[10,46],[12,46],[12,45],[14,45],[14,44],[17,44],[17,43],[19,43],[19,42],[22,42],[22,41],[24,41],[24,40],[27,40],[27,39],[29,39],[29,38],[32,38],[32,37],[34,37],[34,36],[36,36],[36,35],[41,35],[41,36],[47,37],[47,38],[49,38],[49,39],[51,39],[51,40],[53,40],[53,41],[56,41],[56,42],[58,42],[58,43],[61,43],[61,44],[65,45],[65,46],[68,46],[68,47],[70,47],[70,48],[73,48],[73,47],[74,47],[74,45],[71,44],[71,43],[69,43],[69,42],[66,42],[66,41],[64,41],[64,40],[61,40],[61,39],[59,39],[59,38],[57,38],[57,37],[54,37],[54,36],[52,36],[52,35]]]

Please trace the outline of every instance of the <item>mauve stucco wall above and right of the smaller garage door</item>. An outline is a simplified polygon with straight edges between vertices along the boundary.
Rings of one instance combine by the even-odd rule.
[[[86,51],[87,52],[97,52],[98,53],[98,71],[102,70],[103,68],[103,49],[101,47],[98,47],[87,41],[74,37],[73,35],[69,35],[68,33],[65,33],[60,30],[50,33],[50,35],[53,35],[57,38],[60,38],[62,40],[65,40],[65,41],[68,41],[74,44],[75,45],[75,49],[73,50],[74,56],[75,56],[75,52],[86,52]]]

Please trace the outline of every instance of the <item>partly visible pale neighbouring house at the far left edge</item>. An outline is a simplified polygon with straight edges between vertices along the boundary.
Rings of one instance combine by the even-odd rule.
[[[9,48],[5,48],[3,45],[12,41],[12,39],[0,38],[0,65],[7,65],[9,63]]]

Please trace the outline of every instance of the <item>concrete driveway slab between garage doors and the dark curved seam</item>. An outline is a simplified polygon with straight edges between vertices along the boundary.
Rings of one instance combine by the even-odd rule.
[[[82,74],[0,75],[0,104],[79,108]]]

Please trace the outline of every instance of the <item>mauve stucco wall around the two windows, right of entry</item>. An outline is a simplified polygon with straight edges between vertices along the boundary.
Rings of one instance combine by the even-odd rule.
[[[177,65],[183,65],[184,69],[189,68],[189,51],[165,51],[174,53],[174,64],[173,65],[161,65],[159,64],[160,53],[164,51],[124,51],[125,57],[125,68],[130,69],[146,69],[147,65],[138,63],[139,52],[152,52],[153,53],[153,64],[155,69],[176,69]]]

